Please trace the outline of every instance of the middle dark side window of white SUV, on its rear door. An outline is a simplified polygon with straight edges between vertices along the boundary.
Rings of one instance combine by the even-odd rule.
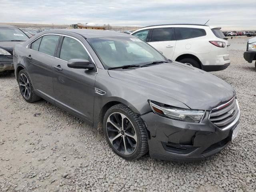
[[[174,41],[174,30],[173,28],[156,28],[153,29],[151,42],[157,41]]]

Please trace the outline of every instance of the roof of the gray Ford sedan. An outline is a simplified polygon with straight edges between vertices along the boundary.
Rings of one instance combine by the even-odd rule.
[[[100,37],[133,37],[132,35],[126,33],[120,33],[115,31],[107,30],[96,30],[96,29],[55,29],[54,32],[73,32],[76,34],[82,35],[84,38],[100,38]],[[51,30],[48,30],[46,33],[50,33]]]

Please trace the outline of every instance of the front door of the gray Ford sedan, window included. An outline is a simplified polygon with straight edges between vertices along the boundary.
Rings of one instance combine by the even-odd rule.
[[[94,63],[92,57],[84,44],[71,36],[62,37],[57,57],[53,65],[55,103],[92,122],[97,68],[74,69],[67,65],[70,59],[86,59]]]

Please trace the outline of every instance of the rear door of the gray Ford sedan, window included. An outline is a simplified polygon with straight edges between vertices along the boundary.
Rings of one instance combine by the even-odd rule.
[[[40,96],[54,101],[52,64],[60,36],[44,35],[29,45],[26,56],[27,70],[34,89]]]

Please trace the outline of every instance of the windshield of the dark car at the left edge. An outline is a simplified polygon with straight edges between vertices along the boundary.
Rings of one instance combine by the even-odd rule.
[[[0,27],[0,41],[26,41],[28,36],[18,28]]]

